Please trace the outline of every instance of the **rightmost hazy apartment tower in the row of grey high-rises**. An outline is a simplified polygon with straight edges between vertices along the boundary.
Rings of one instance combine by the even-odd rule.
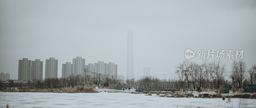
[[[117,79],[117,64],[115,62],[108,63],[108,75],[111,75],[113,79]]]

